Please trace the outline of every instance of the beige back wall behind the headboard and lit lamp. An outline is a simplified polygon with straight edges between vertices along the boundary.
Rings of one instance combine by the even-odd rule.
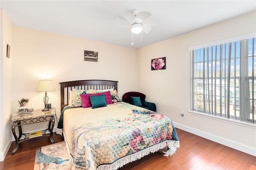
[[[26,28],[13,28],[12,111],[22,97],[44,108],[44,92],[37,92],[38,80],[52,79],[56,91],[48,92],[52,107],[60,116],[60,82],[106,79],[119,81],[118,94],[137,91],[137,51],[133,48],[51,34]],[[84,61],[84,50],[98,51],[98,62]],[[57,123],[56,125],[57,126]],[[45,125],[24,127],[24,130]]]

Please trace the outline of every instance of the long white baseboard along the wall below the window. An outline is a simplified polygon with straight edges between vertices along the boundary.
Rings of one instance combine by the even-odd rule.
[[[229,140],[227,138],[223,138],[223,137],[217,136],[215,134],[211,134],[211,133],[208,133],[208,132],[196,129],[196,128],[192,128],[192,127],[188,127],[186,125],[182,125],[180,123],[176,123],[176,122],[173,122],[173,123],[174,123],[174,126],[176,128],[179,128],[179,129],[184,130],[186,132],[196,134],[198,136],[201,136],[203,138],[212,140],[212,141],[217,142],[219,144],[223,144],[223,145],[228,146],[230,148],[234,148],[236,150],[240,150],[241,152],[245,152],[245,153],[250,154],[252,156],[256,156],[256,148],[253,148],[252,146],[248,146],[248,145],[245,145],[245,144],[242,144],[242,143],[238,143],[236,141]]]

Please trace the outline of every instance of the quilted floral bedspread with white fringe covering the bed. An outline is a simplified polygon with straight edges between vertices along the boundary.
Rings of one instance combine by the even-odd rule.
[[[179,147],[170,118],[128,103],[66,109],[61,116],[72,169],[118,169],[166,146],[170,156]]]

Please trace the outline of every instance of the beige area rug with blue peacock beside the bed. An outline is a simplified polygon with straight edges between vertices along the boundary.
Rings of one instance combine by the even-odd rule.
[[[34,170],[70,170],[71,160],[66,143],[58,142],[36,149]]]

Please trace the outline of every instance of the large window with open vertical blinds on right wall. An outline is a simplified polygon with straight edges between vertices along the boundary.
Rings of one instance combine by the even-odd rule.
[[[193,49],[191,57],[192,111],[256,124],[256,38]]]

